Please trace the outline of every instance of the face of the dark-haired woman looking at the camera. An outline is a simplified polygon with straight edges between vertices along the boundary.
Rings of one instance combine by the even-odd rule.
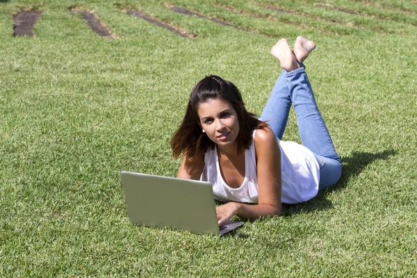
[[[197,108],[199,122],[210,140],[220,147],[234,145],[239,133],[236,110],[229,101],[210,99]]]

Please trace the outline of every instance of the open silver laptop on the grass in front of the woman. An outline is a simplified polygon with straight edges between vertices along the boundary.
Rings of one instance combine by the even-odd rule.
[[[127,213],[133,224],[175,227],[195,234],[223,235],[245,222],[219,226],[211,183],[122,172]]]

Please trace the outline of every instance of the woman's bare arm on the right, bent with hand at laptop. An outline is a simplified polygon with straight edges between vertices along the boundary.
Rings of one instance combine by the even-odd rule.
[[[230,202],[218,206],[219,224],[233,215],[252,220],[281,215],[281,152],[272,130],[265,128],[256,131],[255,150],[259,202],[255,205]]]

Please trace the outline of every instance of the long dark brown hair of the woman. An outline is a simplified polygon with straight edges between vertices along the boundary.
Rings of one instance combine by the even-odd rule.
[[[214,149],[215,143],[203,133],[197,114],[198,105],[210,99],[224,99],[236,110],[239,122],[239,133],[236,137],[238,154],[250,148],[254,129],[267,126],[256,115],[246,111],[242,95],[234,83],[217,75],[206,76],[191,91],[186,115],[179,129],[172,135],[171,148],[175,159],[184,153],[188,159],[193,160],[197,154]]]

